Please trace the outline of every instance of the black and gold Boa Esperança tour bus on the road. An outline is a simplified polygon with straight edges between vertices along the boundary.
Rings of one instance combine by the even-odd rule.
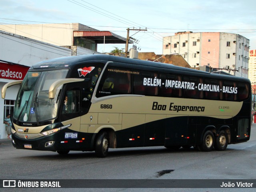
[[[250,139],[247,78],[102,54],[39,62],[2,98],[16,84],[18,149],[106,157],[108,148],[211,151]]]

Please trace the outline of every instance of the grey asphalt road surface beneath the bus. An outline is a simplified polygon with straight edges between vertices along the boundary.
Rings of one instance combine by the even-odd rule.
[[[0,179],[256,179],[256,124],[250,140],[228,145],[225,151],[171,151],[164,147],[110,149],[107,158],[94,152],[15,149],[0,140]],[[255,183],[256,185],[256,183]],[[11,189],[0,189],[8,191]],[[15,189],[12,189],[15,190]],[[16,189],[17,191],[166,191],[167,189]],[[172,188],[168,191],[255,191],[255,188]]]

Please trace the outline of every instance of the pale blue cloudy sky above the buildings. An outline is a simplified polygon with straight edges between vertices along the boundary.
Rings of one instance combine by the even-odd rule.
[[[256,49],[255,0],[0,0],[0,25],[38,22],[81,23],[123,37],[127,28],[147,27],[130,36],[139,40],[140,52],[156,54],[162,54],[164,36],[187,30],[240,34]],[[125,48],[111,44],[105,52],[114,46]],[[103,49],[99,44],[98,51]]]

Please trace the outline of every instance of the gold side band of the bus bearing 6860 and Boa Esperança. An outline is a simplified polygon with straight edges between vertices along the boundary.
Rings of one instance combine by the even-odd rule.
[[[154,107],[154,102],[157,103],[156,108],[158,108],[158,110],[152,110]],[[183,116],[201,115],[208,117],[218,116],[222,119],[226,119],[229,116],[236,116],[241,110],[242,104],[243,102],[218,100],[164,98],[153,96],[126,96],[120,98],[110,98],[109,100],[96,102],[95,104],[91,105],[90,112],[122,114],[166,114]],[[101,108],[102,105],[111,105],[112,108]],[[177,110],[176,108],[179,107],[180,110]],[[163,110],[163,108],[165,110]],[[197,108],[199,110],[196,110]]]

